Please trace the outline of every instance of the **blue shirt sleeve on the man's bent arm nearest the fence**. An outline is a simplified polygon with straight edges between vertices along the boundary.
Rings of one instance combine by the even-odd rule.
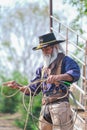
[[[63,66],[65,73],[73,77],[73,82],[78,81],[80,78],[80,67],[72,58],[65,56]]]

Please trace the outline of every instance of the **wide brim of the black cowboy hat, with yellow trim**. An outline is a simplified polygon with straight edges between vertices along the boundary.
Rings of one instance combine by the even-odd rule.
[[[58,41],[55,41],[55,42],[52,42],[52,43],[44,43],[44,44],[39,44],[37,47],[33,47],[32,50],[39,50],[39,49],[42,49],[42,48],[45,48],[45,47],[48,47],[48,46],[53,46],[55,44],[59,44],[59,43],[62,43],[62,42],[65,42],[65,40],[58,40]]]

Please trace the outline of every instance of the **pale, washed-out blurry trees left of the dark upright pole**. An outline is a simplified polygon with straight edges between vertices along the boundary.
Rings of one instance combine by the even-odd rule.
[[[9,75],[18,70],[32,77],[34,68],[41,63],[37,63],[40,53],[34,53],[32,48],[38,43],[38,36],[49,30],[48,6],[40,8],[38,3],[25,3],[23,6],[16,4],[13,8],[3,8],[0,23],[3,73]]]

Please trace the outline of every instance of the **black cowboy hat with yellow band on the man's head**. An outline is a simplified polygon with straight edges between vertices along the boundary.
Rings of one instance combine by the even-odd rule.
[[[39,37],[39,45],[37,47],[33,47],[33,50],[39,50],[48,46],[59,44],[64,41],[65,40],[56,40],[53,32],[48,33]]]

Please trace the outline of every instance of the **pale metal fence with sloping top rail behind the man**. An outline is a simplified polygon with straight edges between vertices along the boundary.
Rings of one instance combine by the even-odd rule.
[[[51,31],[55,33],[56,36],[65,39],[65,46],[63,48],[66,55],[71,56],[75,59],[81,69],[81,76],[78,83],[72,84],[72,92],[77,96],[76,103],[78,108],[84,111],[84,115],[87,112],[87,41],[81,35],[78,35],[70,27],[67,27],[61,23],[57,18],[50,15],[50,19],[53,22],[51,24]],[[72,49],[73,48],[73,51]],[[72,97],[70,97],[72,99]],[[74,112],[74,110],[72,109]],[[87,113],[86,113],[87,114]],[[81,130],[87,130],[87,116],[81,116],[77,114],[77,119],[82,123],[83,128]],[[75,129],[80,130],[79,126],[75,124]]]

